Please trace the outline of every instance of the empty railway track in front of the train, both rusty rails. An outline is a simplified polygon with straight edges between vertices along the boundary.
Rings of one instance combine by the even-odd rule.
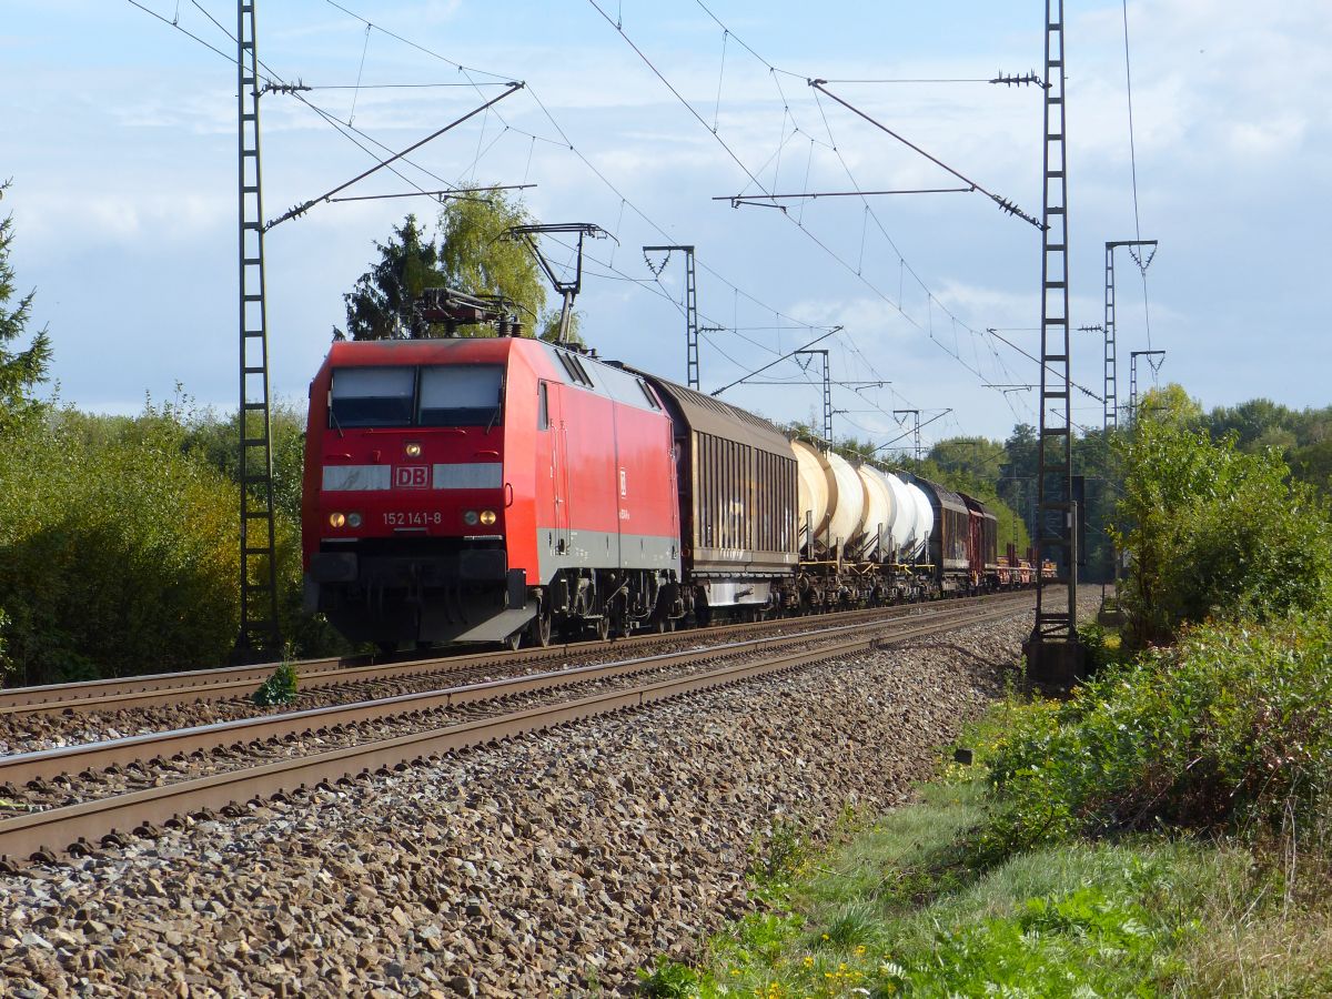
[[[72,773],[81,781],[96,782],[99,773],[151,770],[144,762],[165,761],[166,754],[188,763],[209,759],[209,754],[221,749],[234,766],[202,777],[177,774],[180,779],[174,781],[165,781],[159,773],[149,778],[159,786],[0,821],[0,867],[15,870],[27,860],[52,862],[60,852],[91,854],[99,846],[124,844],[131,834],[155,835],[161,825],[214,818],[218,813],[240,815],[248,802],[261,803],[265,798],[313,786],[332,787],[376,773],[429,766],[444,754],[470,746],[1010,617],[1026,610],[1027,602],[1010,598],[982,606],[935,606],[934,613],[907,619],[898,615],[872,623],[839,621],[832,627],[797,635],[4,758],[0,759],[0,782],[7,785],[4,791],[15,794],[20,786],[16,781],[25,789],[68,787],[73,785]],[[565,697],[541,703],[523,701],[561,690]],[[488,706],[484,717],[438,723],[436,713],[478,705]],[[410,719],[408,730],[356,735],[358,726],[390,718]],[[326,747],[330,738],[349,733],[352,737],[344,739],[346,745]],[[264,761],[265,751],[272,754],[265,747],[278,746],[293,751],[281,759]]]

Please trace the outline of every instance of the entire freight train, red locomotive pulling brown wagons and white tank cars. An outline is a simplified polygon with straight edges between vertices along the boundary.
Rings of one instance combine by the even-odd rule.
[[[984,503],[522,336],[334,344],[306,607],[354,642],[607,637],[1031,581]]]

